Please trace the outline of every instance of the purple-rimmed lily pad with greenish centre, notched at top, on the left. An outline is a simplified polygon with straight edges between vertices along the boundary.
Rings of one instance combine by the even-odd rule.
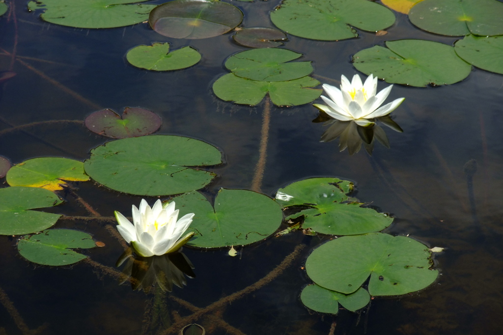
[[[143,108],[126,107],[122,117],[111,109],[94,112],[86,118],[92,132],[112,138],[148,135],[159,129],[161,119]]]

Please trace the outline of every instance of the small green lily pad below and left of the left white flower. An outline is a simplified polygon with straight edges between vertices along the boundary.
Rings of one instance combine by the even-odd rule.
[[[95,246],[90,234],[71,229],[48,229],[23,236],[18,242],[19,253],[28,261],[52,266],[69,265],[87,258],[70,249]]]

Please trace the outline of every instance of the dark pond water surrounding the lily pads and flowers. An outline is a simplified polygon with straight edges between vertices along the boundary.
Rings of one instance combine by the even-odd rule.
[[[233,4],[245,13],[244,27],[273,27],[268,12],[277,1]],[[244,50],[230,35],[203,40],[160,36],[147,24],[108,30],[82,30],[44,23],[15,2],[15,20],[0,18],[0,70],[17,72],[2,84],[0,155],[13,163],[39,156],[89,157],[90,149],[108,141],[81,123],[101,108],[116,111],[141,106],[162,117],[160,134],[180,134],[208,141],[224,152],[226,164],[215,169],[215,183],[205,189],[250,189],[259,159],[265,102],[250,108],[216,98],[212,82],[227,73],[223,62]],[[456,38],[418,31],[402,14],[385,36],[361,32],[358,39],[320,42],[289,36],[284,47],[313,61],[314,76],[339,80],[358,73],[350,62],[357,51],[385,40],[421,38],[452,45]],[[189,69],[155,73],[130,66],[125,53],[139,44],[169,41],[176,49],[191,45],[203,59]],[[11,67],[12,54],[16,58]],[[380,81],[378,90],[387,84]],[[187,323],[203,325],[207,334],[500,334],[503,319],[503,76],[474,69],[467,79],[438,88],[396,85],[388,101],[405,97],[393,112],[403,133],[385,129],[391,148],[377,144],[365,150],[339,152],[338,141],[320,143],[324,129],[313,123],[311,104],[271,107],[263,193],[312,176],[355,181],[358,198],[394,215],[386,232],[409,235],[429,246],[446,247],[435,257],[439,280],[427,289],[398,298],[376,298],[359,313],[337,317],[312,313],[299,300],[310,283],[302,270],[310,251],[326,237],[300,232],[242,248],[230,258],[227,249],[204,252],[185,248],[195,265],[188,286],[162,295],[118,285],[113,274],[89,262],[71,267],[36,266],[19,256],[17,238],[0,236],[0,334],[150,334],[159,329],[156,315],[170,322],[200,312]],[[474,217],[464,165],[471,159]],[[8,185],[0,180],[3,187]],[[74,184],[80,198],[103,216],[129,213],[141,197],[106,190],[93,182]],[[66,203],[49,211],[88,216],[69,193]],[[150,199],[153,202],[152,199]],[[260,209],[258,209],[260,210]],[[60,220],[56,227],[90,232],[106,246],[85,252],[91,260],[114,269],[123,249],[107,225],[113,221]],[[274,280],[253,285],[306,245]],[[259,283],[260,284],[260,283]],[[230,294],[246,289],[231,303]],[[155,308],[157,307],[157,309]],[[153,321],[152,321],[153,320]],[[182,322],[182,321],[180,321]],[[334,323],[336,322],[336,323]],[[335,325],[337,324],[337,325]],[[330,327],[335,325],[333,332]],[[179,329],[172,329],[178,332]],[[33,333],[33,332],[32,332]],[[165,333],[165,332],[164,332]]]

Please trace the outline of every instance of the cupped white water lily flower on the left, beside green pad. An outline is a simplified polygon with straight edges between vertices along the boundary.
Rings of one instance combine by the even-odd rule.
[[[140,202],[140,209],[133,205],[133,223],[124,215],[115,211],[119,225],[117,230],[126,242],[131,243],[136,253],[143,257],[161,256],[179,249],[194,236],[190,232],[180,238],[192,222],[194,213],[178,219],[179,210],[175,202],[162,205],[160,200],[150,208],[145,199]]]

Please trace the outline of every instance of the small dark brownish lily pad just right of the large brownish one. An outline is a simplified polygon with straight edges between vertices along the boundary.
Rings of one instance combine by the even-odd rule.
[[[245,28],[237,31],[232,38],[249,48],[275,48],[287,40],[284,32],[272,28]]]

